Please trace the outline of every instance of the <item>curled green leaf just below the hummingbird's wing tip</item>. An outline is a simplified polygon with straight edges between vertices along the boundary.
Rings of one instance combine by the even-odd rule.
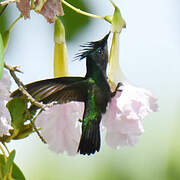
[[[11,124],[16,129],[24,126],[27,115],[26,105],[27,103],[24,98],[13,98],[6,105],[11,114]]]

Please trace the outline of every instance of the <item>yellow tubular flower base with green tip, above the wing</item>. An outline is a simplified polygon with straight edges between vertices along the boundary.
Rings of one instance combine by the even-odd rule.
[[[54,24],[54,77],[68,75],[65,29],[57,18]]]

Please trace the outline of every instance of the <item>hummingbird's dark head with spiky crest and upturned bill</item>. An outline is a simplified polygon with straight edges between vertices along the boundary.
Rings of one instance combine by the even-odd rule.
[[[104,74],[106,74],[106,67],[108,63],[108,49],[107,39],[110,32],[101,40],[89,42],[85,45],[81,45],[84,49],[77,54],[77,57],[81,59],[86,58],[87,64],[96,64]]]

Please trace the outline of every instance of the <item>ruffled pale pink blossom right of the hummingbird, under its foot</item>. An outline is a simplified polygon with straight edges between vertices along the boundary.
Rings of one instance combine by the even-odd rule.
[[[112,148],[133,146],[144,132],[142,119],[157,111],[156,99],[142,88],[124,84],[108,104],[102,124],[107,129],[106,141]]]

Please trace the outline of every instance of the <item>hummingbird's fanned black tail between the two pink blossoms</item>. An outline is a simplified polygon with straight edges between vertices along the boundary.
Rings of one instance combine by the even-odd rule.
[[[101,116],[98,117],[98,121],[93,120],[93,122],[91,122],[91,126],[86,126],[83,128],[78,147],[78,152],[80,152],[80,154],[90,155],[100,150],[100,120]]]

